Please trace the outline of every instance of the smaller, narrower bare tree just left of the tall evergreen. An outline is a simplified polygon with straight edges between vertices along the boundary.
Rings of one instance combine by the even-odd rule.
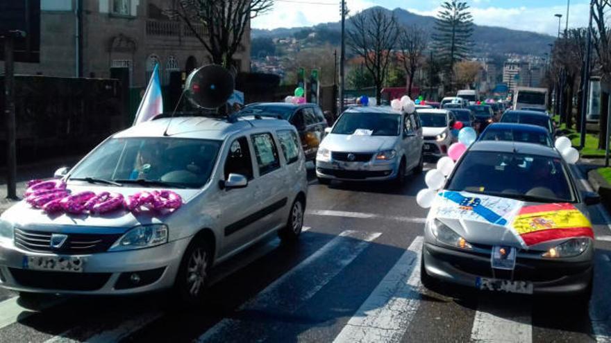
[[[412,96],[412,85],[416,71],[424,64],[424,49],[426,49],[426,33],[418,26],[401,28],[399,30],[399,61],[403,64],[408,82],[408,96]]]

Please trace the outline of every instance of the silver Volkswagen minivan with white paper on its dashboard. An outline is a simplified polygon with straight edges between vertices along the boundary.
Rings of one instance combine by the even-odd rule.
[[[403,184],[408,172],[421,173],[422,128],[418,115],[390,107],[351,107],[323,139],[316,157],[321,184],[331,180]]]

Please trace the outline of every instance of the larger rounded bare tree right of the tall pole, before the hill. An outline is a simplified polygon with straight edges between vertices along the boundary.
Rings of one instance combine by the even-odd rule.
[[[365,68],[374,79],[380,103],[391,53],[399,37],[396,18],[380,8],[372,8],[351,17],[346,33],[350,48],[365,61]]]

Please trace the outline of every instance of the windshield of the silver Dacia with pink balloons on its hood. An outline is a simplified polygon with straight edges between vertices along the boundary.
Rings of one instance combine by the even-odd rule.
[[[208,182],[220,146],[221,141],[204,139],[111,138],[85,157],[70,179],[200,188]]]

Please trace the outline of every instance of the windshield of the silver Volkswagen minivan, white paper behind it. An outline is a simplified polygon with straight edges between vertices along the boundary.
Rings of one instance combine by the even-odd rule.
[[[399,136],[401,116],[390,113],[344,113],[333,126],[332,133]]]

